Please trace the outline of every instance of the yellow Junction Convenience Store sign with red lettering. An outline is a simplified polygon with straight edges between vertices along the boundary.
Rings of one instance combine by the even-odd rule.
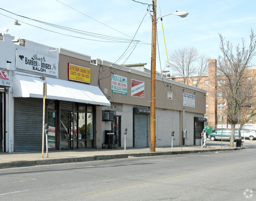
[[[91,69],[68,63],[68,79],[90,84]]]

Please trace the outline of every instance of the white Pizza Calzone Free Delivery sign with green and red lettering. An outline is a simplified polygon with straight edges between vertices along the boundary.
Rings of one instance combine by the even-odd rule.
[[[111,75],[111,92],[127,95],[127,78],[118,75]]]

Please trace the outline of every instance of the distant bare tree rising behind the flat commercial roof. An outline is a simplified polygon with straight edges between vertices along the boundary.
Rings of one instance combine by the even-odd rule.
[[[169,54],[168,65],[175,76],[183,78],[184,84],[189,84],[191,77],[197,77],[197,86],[201,78],[208,73],[208,59],[208,56],[200,55],[196,48],[185,47]]]

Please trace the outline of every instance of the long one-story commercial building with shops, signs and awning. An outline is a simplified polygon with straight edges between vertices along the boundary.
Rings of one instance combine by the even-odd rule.
[[[45,124],[49,150],[124,147],[125,127],[126,147],[150,146],[150,73],[13,39],[0,34],[1,152],[42,150]],[[155,93],[156,146],[172,130],[199,145],[206,91],[156,76]]]

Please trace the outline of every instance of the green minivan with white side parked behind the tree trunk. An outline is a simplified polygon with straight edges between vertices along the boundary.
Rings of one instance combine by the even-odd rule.
[[[215,139],[221,139],[221,133],[222,139],[230,140],[231,131],[232,129],[218,129],[214,133],[209,134],[210,140],[214,141]],[[235,141],[236,139],[241,139],[241,132],[238,129],[235,129],[235,135],[233,140]]]

